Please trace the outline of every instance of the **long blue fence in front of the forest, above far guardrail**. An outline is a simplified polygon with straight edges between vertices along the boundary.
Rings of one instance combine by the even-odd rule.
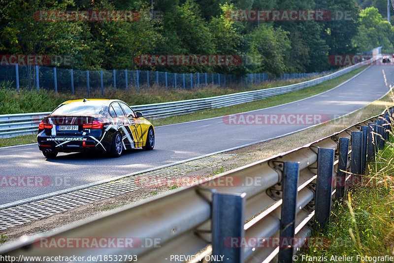
[[[104,93],[104,89],[137,92],[161,86],[166,89],[195,89],[206,85],[256,85],[272,79],[311,78],[326,72],[286,73],[272,78],[268,73],[241,75],[219,73],[170,73],[147,70],[75,70],[49,66],[0,66],[0,82],[11,81],[17,91],[20,87],[53,90],[63,93]]]

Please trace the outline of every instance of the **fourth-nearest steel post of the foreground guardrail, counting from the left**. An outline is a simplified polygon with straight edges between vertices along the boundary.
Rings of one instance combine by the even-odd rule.
[[[342,198],[345,195],[346,187],[346,169],[348,164],[348,154],[349,154],[349,138],[339,138],[339,148],[338,148],[338,168],[336,171],[335,178],[335,200]]]

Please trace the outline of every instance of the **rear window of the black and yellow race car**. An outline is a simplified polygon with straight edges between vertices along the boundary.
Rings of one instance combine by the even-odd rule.
[[[52,115],[91,115],[91,114],[101,114],[103,110],[103,102],[88,100],[88,101],[78,101],[63,104],[52,112]]]

